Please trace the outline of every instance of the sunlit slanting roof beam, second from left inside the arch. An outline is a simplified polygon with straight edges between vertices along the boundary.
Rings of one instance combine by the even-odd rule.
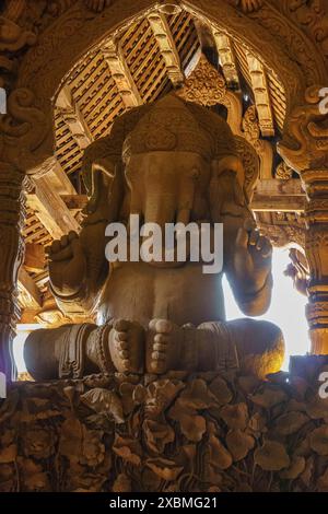
[[[119,43],[107,39],[101,51],[108,65],[112,77],[116,83],[121,100],[127,108],[141,105],[142,98],[129,70],[124,51]]]

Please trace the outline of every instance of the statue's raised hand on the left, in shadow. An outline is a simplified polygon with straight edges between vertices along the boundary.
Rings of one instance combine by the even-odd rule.
[[[79,292],[86,273],[86,259],[75,232],[70,232],[48,248],[52,290],[61,296]]]

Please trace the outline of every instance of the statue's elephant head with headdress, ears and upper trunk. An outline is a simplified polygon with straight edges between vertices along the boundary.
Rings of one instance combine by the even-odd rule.
[[[82,173],[85,223],[134,213],[163,226],[251,217],[259,160],[223,118],[169,94],[118,118],[85,150]]]

